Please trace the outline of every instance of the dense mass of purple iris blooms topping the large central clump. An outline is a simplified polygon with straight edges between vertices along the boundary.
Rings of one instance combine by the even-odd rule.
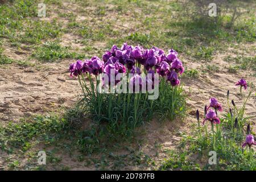
[[[129,46],[127,43],[123,43],[121,48],[114,45],[102,55],[102,60],[97,56],[90,60],[77,60],[69,66],[69,71],[71,76],[78,76],[82,73],[97,76],[100,73],[110,75],[110,71],[114,70],[115,75],[133,73],[134,77],[130,81],[134,81],[137,78],[141,80],[142,66],[147,73],[158,73],[166,77],[172,86],[180,84],[179,75],[184,72],[182,62],[177,58],[177,52],[174,49],[170,49],[166,55],[162,49],[157,47],[144,49],[141,46]]]

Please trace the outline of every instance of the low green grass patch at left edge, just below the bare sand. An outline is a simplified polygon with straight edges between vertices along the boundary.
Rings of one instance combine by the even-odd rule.
[[[54,133],[63,130],[66,122],[64,118],[42,115],[32,118],[32,121],[10,122],[7,126],[0,126],[0,146],[2,150],[9,152],[19,147],[27,151],[36,139],[44,140],[46,143],[52,142],[55,139]]]

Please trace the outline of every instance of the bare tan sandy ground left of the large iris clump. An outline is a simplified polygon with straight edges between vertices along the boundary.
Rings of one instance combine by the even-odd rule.
[[[69,77],[71,62],[45,64],[42,68],[0,68],[0,120],[18,121],[20,117],[72,106],[80,88],[77,80]]]

